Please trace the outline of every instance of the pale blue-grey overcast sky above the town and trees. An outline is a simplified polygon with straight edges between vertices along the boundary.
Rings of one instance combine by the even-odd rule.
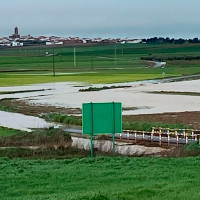
[[[0,0],[0,36],[200,37],[200,0]]]

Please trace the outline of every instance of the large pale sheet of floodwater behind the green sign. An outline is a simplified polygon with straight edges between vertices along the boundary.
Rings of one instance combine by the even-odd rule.
[[[1,91],[41,90],[36,92],[4,94],[2,98],[19,98],[29,103],[52,105],[56,107],[81,108],[86,102],[122,102],[123,114],[155,114],[164,112],[200,111],[200,96],[153,94],[149,92],[193,92],[200,93],[200,80],[181,82],[162,82],[162,80],[139,81],[131,83],[106,84],[131,86],[94,92],[79,92],[88,87],[105,85],[85,85],[82,83],[48,83],[30,86],[0,87]],[[138,108],[138,109],[135,109]]]

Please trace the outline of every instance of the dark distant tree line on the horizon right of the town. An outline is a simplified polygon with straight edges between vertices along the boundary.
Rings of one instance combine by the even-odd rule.
[[[200,43],[200,40],[198,38],[193,39],[170,39],[169,37],[163,38],[163,37],[153,37],[149,39],[142,39],[142,42],[149,43],[149,44],[184,44],[184,43]]]

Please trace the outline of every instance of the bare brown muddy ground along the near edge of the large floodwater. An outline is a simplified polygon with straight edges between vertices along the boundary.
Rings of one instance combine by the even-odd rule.
[[[48,105],[28,104],[26,101],[18,99],[0,100],[0,109],[10,110],[12,112],[22,113],[32,116],[41,116],[45,113],[57,112],[60,114],[81,114],[80,108],[63,108]],[[191,126],[194,129],[200,129],[200,111],[196,112],[179,112],[179,113],[162,113],[162,114],[142,114],[126,115],[123,121],[136,122],[161,122],[167,124],[181,123]]]

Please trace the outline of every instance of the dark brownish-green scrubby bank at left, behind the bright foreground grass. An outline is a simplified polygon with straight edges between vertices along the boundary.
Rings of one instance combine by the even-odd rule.
[[[82,158],[88,151],[71,146],[71,136],[60,129],[32,133],[0,127],[0,157],[26,159]]]

